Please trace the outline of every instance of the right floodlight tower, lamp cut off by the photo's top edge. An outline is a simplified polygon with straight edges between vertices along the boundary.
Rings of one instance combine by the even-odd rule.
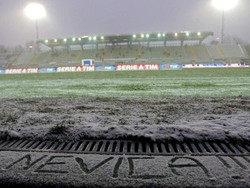
[[[225,36],[225,11],[234,8],[239,0],[212,0],[212,5],[218,10],[222,11],[221,19],[221,44],[224,43]]]

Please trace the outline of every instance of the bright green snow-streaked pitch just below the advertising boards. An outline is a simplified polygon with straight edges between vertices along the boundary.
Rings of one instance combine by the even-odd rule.
[[[0,91],[0,98],[250,96],[250,69],[0,75]]]

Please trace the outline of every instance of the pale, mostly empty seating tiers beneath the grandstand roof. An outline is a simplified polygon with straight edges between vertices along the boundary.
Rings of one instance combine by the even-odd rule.
[[[110,45],[85,49],[56,49],[53,52],[0,53],[0,68],[81,65],[82,59],[96,64],[116,63],[210,63],[215,60],[235,62],[249,59],[242,45]]]

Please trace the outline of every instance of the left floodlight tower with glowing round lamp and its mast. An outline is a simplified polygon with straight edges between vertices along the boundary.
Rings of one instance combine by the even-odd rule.
[[[35,30],[36,30],[36,45],[35,45],[35,52],[38,48],[37,42],[39,40],[39,27],[38,27],[38,20],[44,18],[46,16],[45,8],[42,4],[39,3],[29,3],[25,9],[24,14],[31,20],[35,21]]]

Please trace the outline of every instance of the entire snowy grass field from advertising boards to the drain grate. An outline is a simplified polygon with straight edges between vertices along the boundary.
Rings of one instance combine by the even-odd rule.
[[[0,75],[0,139],[249,141],[249,96],[250,68]]]

